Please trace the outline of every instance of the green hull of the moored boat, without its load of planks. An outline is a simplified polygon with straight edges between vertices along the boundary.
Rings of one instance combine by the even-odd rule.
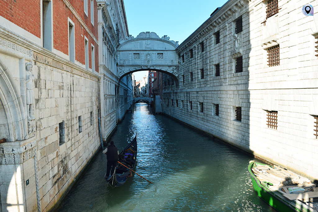
[[[257,166],[268,166],[268,165],[251,161],[248,166],[248,171],[249,171],[249,174],[251,175],[253,188],[257,192],[257,195],[262,200],[267,202],[274,209],[281,212],[288,212],[288,211],[317,212],[317,210],[315,210],[314,207],[310,207],[310,205],[306,204],[306,202],[303,202],[297,199],[290,200],[286,198],[286,196],[284,196],[284,192],[280,190],[284,186],[273,186],[273,183],[269,182],[268,180],[260,181],[252,170],[253,168],[256,168]],[[271,169],[274,169],[272,166],[269,166],[269,167],[271,167]],[[311,185],[315,187],[314,184],[311,184]],[[310,189],[310,185],[309,185],[309,189]],[[313,206],[312,202],[310,203],[311,203],[311,206]]]

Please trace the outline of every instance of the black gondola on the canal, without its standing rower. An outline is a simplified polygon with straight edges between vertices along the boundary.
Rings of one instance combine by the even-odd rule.
[[[128,155],[130,155],[135,162],[130,164],[129,168],[134,169],[137,157],[137,133],[135,138],[121,151],[119,157],[121,158],[122,156],[124,159],[126,159],[129,157]],[[117,167],[113,175],[107,178],[107,182],[112,188],[114,188],[123,185],[129,177],[132,177],[132,172],[128,168],[123,167],[120,163],[117,163]]]

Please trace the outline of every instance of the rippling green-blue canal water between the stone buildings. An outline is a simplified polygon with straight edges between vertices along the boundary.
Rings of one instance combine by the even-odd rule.
[[[213,140],[145,103],[126,113],[112,136],[119,151],[137,131],[135,171],[121,187],[104,179],[106,155],[97,153],[59,211],[274,211],[253,192],[251,155]]]

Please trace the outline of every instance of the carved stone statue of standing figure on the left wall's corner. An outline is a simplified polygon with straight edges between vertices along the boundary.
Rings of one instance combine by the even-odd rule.
[[[26,112],[28,120],[34,120],[35,117],[32,115],[34,105],[34,75],[32,74],[32,63],[25,64],[25,84],[26,84]]]

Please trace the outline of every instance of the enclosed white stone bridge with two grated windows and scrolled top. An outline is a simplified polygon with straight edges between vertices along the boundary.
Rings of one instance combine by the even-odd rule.
[[[178,86],[178,41],[169,39],[166,35],[159,38],[155,32],[141,32],[136,38],[129,35],[121,41],[117,47],[119,81],[129,73],[149,70],[169,74]]]

